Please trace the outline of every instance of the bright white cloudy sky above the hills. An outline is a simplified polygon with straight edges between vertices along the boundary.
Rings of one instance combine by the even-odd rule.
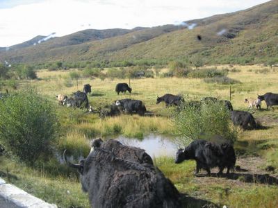
[[[0,0],[0,47],[37,35],[152,27],[235,12],[267,0]]]

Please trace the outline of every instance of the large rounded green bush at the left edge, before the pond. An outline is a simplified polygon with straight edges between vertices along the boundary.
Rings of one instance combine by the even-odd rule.
[[[22,162],[47,159],[58,132],[58,120],[49,101],[33,89],[0,101],[0,141]]]

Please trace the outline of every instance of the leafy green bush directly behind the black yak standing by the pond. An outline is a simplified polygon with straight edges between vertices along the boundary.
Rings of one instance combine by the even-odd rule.
[[[200,107],[185,105],[173,118],[179,145],[188,145],[196,139],[221,138],[234,142],[237,137],[229,122],[229,111],[221,103],[202,103]]]

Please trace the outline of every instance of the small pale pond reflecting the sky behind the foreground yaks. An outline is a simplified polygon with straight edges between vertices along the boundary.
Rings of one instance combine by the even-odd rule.
[[[144,149],[152,158],[160,156],[174,157],[178,149],[177,145],[172,143],[169,138],[161,135],[148,135],[142,140],[123,136],[116,139],[126,146],[136,146]]]

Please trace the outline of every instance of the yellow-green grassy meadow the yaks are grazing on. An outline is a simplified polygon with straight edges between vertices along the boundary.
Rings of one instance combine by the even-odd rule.
[[[261,65],[213,66],[218,69],[229,69],[228,77],[238,80],[231,85],[231,103],[234,110],[247,110],[245,98],[256,98],[257,94],[266,92],[278,93],[278,68],[263,67]],[[72,69],[74,70],[74,69]],[[73,155],[86,155],[90,150],[90,139],[102,137],[109,139],[117,135],[142,139],[150,133],[174,136],[173,123],[170,118],[174,107],[165,108],[164,103],[156,105],[156,96],[163,94],[181,94],[185,100],[196,100],[204,96],[214,96],[218,99],[229,100],[230,85],[205,83],[201,78],[141,78],[131,79],[132,94],[115,93],[117,83],[129,83],[128,79],[101,80],[99,78],[70,80],[67,71],[37,71],[38,80],[21,83],[35,87],[40,94],[56,103],[58,119],[61,123],[61,134],[58,139],[58,153],[67,148]],[[167,71],[161,69],[160,73]],[[99,119],[98,114],[91,114],[85,110],[72,109],[58,105],[57,94],[70,95],[83,85],[92,85],[92,94],[88,96],[90,105],[94,109],[113,103],[122,98],[133,98],[145,103],[147,110],[155,116],[121,115]],[[12,91],[12,90],[11,90]],[[260,130],[238,130],[238,144],[236,146],[238,158],[244,163],[240,167],[248,166],[248,158],[258,157],[261,162],[256,164],[256,171],[262,173],[266,166],[273,166],[275,171],[271,175],[278,175],[278,110],[262,110],[254,112],[254,118],[261,125],[267,127]],[[88,196],[81,191],[78,175],[74,171],[58,164],[56,161],[41,164],[36,168],[27,168],[18,164],[13,157],[0,157],[0,176],[16,184],[18,187],[32,193],[58,207],[89,207]],[[253,180],[246,182],[243,176],[236,180],[218,177],[195,177],[193,171],[195,162],[174,164],[170,157],[155,158],[154,162],[161,171],[174,182],[181,193],[205,200],[215,206],[227,207],[278,207],[277,185],[259,183]],[[55,168],[53,168],[55,166]],[[6,173],[11,176],[5,177]],[[252,174],[251,174],[252,175]],[[211,205],[213,206],[213,205]],[[196,203],[188,204],[184,200],[184,207],[198,207]]]

